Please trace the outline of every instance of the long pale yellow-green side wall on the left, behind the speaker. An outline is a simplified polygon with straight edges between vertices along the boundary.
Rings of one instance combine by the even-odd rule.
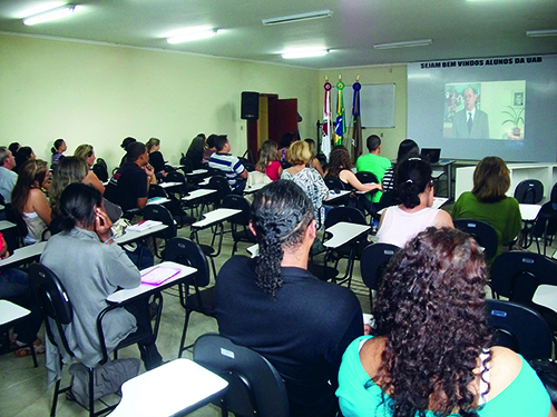
[[[315,132],[316,70],[158,50],[0,34],[0,145],[31,146],[50,161],[57,138],[72,155],[95,147],[109,167],[121,140],[162,140],[177,163],[199,132],[227,133],[233,153],[246,150],[241,92],[297,98],[300,129]],[[321,98],[322,100],[322,98]]]

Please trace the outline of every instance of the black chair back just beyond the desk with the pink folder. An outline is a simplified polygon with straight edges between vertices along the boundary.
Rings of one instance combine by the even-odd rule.
[[[197,287],[209,285],[207,258],[199,245],[186,238],[172,238],[166,244],[164,259],[197,269],[194,275]]]

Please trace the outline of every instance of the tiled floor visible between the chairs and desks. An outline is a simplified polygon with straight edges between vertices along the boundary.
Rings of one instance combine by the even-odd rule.
[[[180,229],[178,236],[189,237],[189,228]],[[208,231],[201,234],[202,241],[208,242]],[[240,246],[240,254],[245,254],[247,245]],[[553,254],[557,245],[548,250],[548,255]],[[535,246],[531,250],[535,250]],[[226,261],[232,252],[232,239],[225,237],[223,254],[217,259],[217,269]],[[352,289],[358,295],[362,309],[369,312],[370,304],[368,289],[361,281],[359,265],[354,268],[354,278]],[[165,360],[172,360],[177,357],[178,344],[184,326],[184,310],[179,305],[178,294],[176,289],[164,291],[164,309],[160,321],[160,330],[157,339],[157,347]],[[199,335],[217,331],[216,321],[202,315],[193,314],[187,332],[187,342],[193,342]],[[41,335],[42,337],[42,335]],[[139,358],[137,347],[131,346],[123,349],[119,357],[136,357]],[[190,353],[185,353],[184,357],[190,357]],[[46,416],[50,413],[52,400],[52,388],[47,388],[45,356],[39,356],[39,367],[32,367],[31,357],[16,358],[12,354],[0,356],[0,416],[11,417],[29,417],[29,416]],[[144,371],[143,365],[140,371]],[[184,376],[185,378],[187,376]],[[65,377],[62,383],[69,381],[67,367],[65,367]],[[117,397],[116,397],[117,398]],[[117,400],[117,399],[116,399]],[[66,416],[87,416],[88,411],[76,403],[67,400],[60,396],[58,403],[57,415]],[[205,406],[192,416],[196,417],[218,417],[219,409],[209,405]]]

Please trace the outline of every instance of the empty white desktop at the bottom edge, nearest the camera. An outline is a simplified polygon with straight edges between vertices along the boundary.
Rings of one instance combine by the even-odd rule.
[[[121,386],[113,417],[184,416],[224,395],[228,383],[190,359],[175,359]]]

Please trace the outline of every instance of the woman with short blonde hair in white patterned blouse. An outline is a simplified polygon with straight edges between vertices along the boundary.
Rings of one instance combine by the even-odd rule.
[[[289,162],[292,167],[282,171],[281,178],[294,181],[304,190],[313,205],[313,217],[320,228],[325,220],[323,200],[329,196],[329,188],[315,169],[307,168],[311,157],[306,142],[299,140],[292,143],[289,151]]]

